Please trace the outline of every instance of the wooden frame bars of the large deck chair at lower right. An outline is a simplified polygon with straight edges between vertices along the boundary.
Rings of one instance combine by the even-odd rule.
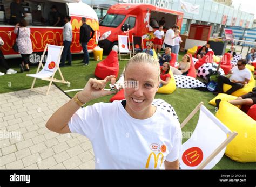
[[[187,118],[183,121],[183,123],[180,124],[180,127],[183,128],[187,123],[188,121],[190,121],[190,119],[194,116],[194,114],[196,114],[198,112],[198,110],[200,109],[200,107],[204,105],[203,102],[200,102],[196,108],[194,108],[194,110],[187,116]],[[204,169],[205,166],[207,166],[208,163],[210,163],[215,156],[217,156],[219,154],[219,152],[228,145],[228,143],[230,143],[234,138],[235,136],[237,136],[238,133],[237,132],[231,132],[231,133],[228,133],[228,138],[221,143],[221,145],[219,145],[215,150],[214,152],[209,155],[207,157],[207,159],[205,159],[204,162],[202,162],[197,169]]]

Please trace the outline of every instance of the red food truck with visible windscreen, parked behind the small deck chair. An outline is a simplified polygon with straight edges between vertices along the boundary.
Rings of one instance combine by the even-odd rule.
[[[129,24],[130,42],[134,35],[143,37],[143,43],[146,45],[146,41],[153,41],[153,33],[159,27],[158,21],[162,17],[165,17],[164,31],[175,24],[181,28],[183,12],[158,8],[151,4],[115,4],[99,23],[102,35],[98,45],[105,51],[110,51],[118,45],[118,35],[126,35],[122,29],[124,24]]]

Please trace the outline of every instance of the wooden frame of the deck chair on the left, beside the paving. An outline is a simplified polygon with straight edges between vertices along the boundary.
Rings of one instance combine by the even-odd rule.
[[[58,56],[58,62],[57,62],[57,64],[59,63],[60,57],[62,56],[63,48],[64,48],[64,46],[62,46],[62,48],[60,49],[60,53],[59,53],[59,56]],[[40,60],[40,62],[39,62],[39,64],[38,64],[36,74],[39,72],[40,67],[44,68],[43,59],[44,59],[44,55],[45,55],[46,49],[48,49],[48,44],[46,44],[46,46],[45,46],[45,48],[44,48],[44,52],[43,52],[43,55],[41,56],[41,60]],[[58,80],[58,79],[54,78],[55,73],[57,72],[57,70],[59,71],[59,74],[60,74],[60,77],[62,78],[62,80]],[[64,84],[70,84],[70,82],[64,80],[64,77],[63,77],[63,75],[62,75],[62,71],[60,70],[59,66],[58,66],[58,69],[57,69],[57,70],[56,70],[56,71],[52,74],[52,76],[49,77],[49,78],[38,78],[38,79],[41,79],[41,80],[44,80],[44,81],[50,81],[49,86],[48,86],[48,90],[47,90],[47,92],[46,92],[46,95],[48,95],[48,93],[49,93],[49,91],[50,91],[52,82],[59,82],[59,83],[64,83]],[[34,85],[35,85],[35,83],[36,83],[36,79],[37,79],[37,78],[34,78],[34,79],[33,79],[33,82],[32,82],[32,85],[31,85],[31,89],[33,89],[33,87],[34,87]]]

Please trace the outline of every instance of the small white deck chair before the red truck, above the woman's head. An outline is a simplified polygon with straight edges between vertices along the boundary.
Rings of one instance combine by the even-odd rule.
[[[118,35],[118,47],[119,47],[119,60],[130,60],[131,51],[130,51],[130,39],[127,35]],[[124,53],[124,54],[121,54]],[[130,59],[121,59],[121,56],[130,55]]]

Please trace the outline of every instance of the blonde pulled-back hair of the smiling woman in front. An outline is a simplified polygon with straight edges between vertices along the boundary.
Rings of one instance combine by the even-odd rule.
[[[153,56],[146,54],[146,53],[138,53],[137,55],[134,55],[126,64],[126,67],[124,69],[124,77],[125,77],[125,71],[126,71],[127,67],[129,66],[129,64],[131,64],[131,63],[138,63],[138,64],[146,63],[151,66],[155,66],[156,71],[158,71],[158,81],[159,81],[160,66],[159,66],[159,62],[156,59],[154,59]]]

